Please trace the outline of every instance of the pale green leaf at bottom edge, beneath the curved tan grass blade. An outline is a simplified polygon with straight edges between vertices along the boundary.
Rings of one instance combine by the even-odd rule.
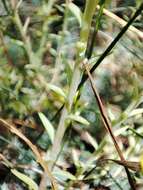
[[[27,175],[17,171],[16,169],[11,169],[11,172],[18,177],[21,181],[28,185],[29,190],[38,190],[38,185]]]

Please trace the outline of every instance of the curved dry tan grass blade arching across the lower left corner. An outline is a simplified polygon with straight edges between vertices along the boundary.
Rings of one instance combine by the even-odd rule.
[[[37,147],[35,145],[33,145],[32,142],[25,135],[23,135],[18,129],[16,129],[13,125],[9,124],[7,121],[5,121],[2,118],[0,118],[0,125],[6,127],[11,133],[17,135],[20,139],[22,139],[30,147],[30,149],[33,151],[33,153],[36,156],[37,162],[41,165],[41,167],[44,169],[44,172],[49,177],[49,179],[51,181],[51,185],[52,185],[52,190],[58,190],[57,183],[56,183],[53,175],[49,171],[47,164],[42,159]]]

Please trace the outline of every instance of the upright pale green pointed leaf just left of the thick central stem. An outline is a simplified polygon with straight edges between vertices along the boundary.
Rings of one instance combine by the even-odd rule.
[[[40,112],[38,114],[42,121],[43,126],[45,127],[45,129],[50,137],[51,142],[53,143],[54,136],[55,136],[55,130],[54,130],[53,125],[51,124],[51,122],[48,120],[48,118],[43,113]]]

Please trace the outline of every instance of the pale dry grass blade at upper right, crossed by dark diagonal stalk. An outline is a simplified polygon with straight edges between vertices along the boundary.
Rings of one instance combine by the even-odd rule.
[[[97,9],[99,9],[99,8],[100,8],[100,6],[98,5],[98,6],[97,6]],[[124,26],[127,24],[127,22],[126,22],[124,19],[120,18],[119,16],[115,15],[114,13],[110,12],[109,10],[107,10],[107,9],[105,9],[105,8],[103,9],[103,13],[104,13],[106,16],[108,16],[108,17],[112,18],[113,20],[115,20],[116,22],[118,22],[122,27],[124,27]],[[127,33],[128,33],[131,37],[138,36],[140,39],[143,40],[143,32],[140,31],[140,30],[138,30],[138,29],[137,29],[136,27],[134,27],[134,26],[130,26]]]

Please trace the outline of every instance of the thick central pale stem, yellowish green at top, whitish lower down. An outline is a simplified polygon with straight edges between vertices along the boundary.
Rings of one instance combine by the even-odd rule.
[[[64,108],[61,113],[61,118],[59,121],[59,125],[56,131],[55,135],[55,140],[54,144],[51,149],[51,155],[50,155],[50,160],[52,160],[51,168],[54,166],[54,161],[56,160],[60,149],[61,149],[61,144],[62,144],[62,139],[66,131],[66,119],[68,114],[71,111],[72,105],[73,105],[73,100],[76,95],[76,91],[79,85],[79,81],[81,79],[81,70],[80,70],[80,63],[83,60],[83,56],[85,54],[86,46],[87,46],[87,41],[89,37],[89,32],[90,32],[90,26],[91,26],[91,21],[92,17],[96,8],[96,5],[98,3],[98,0],[92,1],[92,0],[87,0],[86,1],[86,7],[85,11],[83,14],[83,21],[82,21],[82,28],[80,32],[80,43],[77,47],[77,59],[75,62],[74,70],[73,70],[73,76],[72,76],[72,82],[70,85],[68,97],[67,97],[67,104],[64,105]],[[68,108],[67,108],[68,107]]]

